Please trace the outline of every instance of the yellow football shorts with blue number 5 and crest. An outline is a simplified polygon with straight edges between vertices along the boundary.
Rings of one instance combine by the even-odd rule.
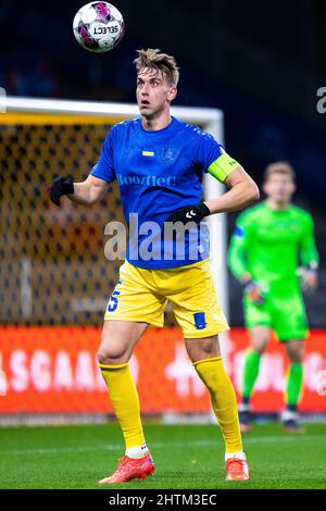
[[[141,269],[126,261],[120,269],[104,320],[162,327],[167,300],[186,338],[210,337],[229,329],[208,259],[165,270]]]

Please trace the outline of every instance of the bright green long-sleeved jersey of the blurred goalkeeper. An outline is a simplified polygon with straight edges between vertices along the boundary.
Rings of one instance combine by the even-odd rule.
[[[298,266],[318,262],[311,214],[296,205],[275,211],[265,202],[246,210],[237,219],[228,262],[236,278],[249,273],[266,292],[299,290]]]

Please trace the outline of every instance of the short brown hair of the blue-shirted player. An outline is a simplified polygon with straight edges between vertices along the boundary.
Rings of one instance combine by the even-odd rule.
[[[143,67],[161,71],[171,87],[176,87],[179,79],[179,68],[175,58],[161,50],[148,48],[137,50],[138,57],[134,60],[136,70],[139,72]]]

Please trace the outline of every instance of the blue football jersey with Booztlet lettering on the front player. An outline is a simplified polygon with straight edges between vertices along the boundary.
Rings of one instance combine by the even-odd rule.
[[[184,239],[164,242],[164,221],[176,209],[200,202],[203,173],[222,151],[210,134],[175,117],[158,130],[145,129],[141,119],[112,127],[90,173],[106,183],[117,180],[131,264],[166,269],[209,258],[205,222],[186,232]]]

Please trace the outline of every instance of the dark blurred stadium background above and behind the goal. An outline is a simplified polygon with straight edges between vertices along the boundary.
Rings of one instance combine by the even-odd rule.
[[[176,104],[225,112],[225,140],[261,184],[264,166],[289,160],[298,173],[296,203],[310,210],[322,257],[311,326],[325,327],[326,3],[235,0],[118,0],[126,34],[112,52],[88,53],[71,25],[83,1],[0,2],[0,86],[8,95],[134,101],[134,50],[158,47],[181,68]],[[235,215],[228,216],[229,235]],[[240,288],[229,276],[230,321],[242,324]]]

